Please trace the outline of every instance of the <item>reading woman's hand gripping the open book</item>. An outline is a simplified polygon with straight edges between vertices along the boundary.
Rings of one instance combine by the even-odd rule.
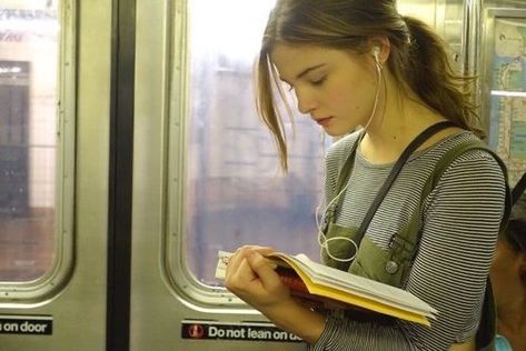
[[[276,263],[265,258],[272,248],[246,245],[228,260],[225,285],[265,313],[291,301],[290,291],[276,273]]]

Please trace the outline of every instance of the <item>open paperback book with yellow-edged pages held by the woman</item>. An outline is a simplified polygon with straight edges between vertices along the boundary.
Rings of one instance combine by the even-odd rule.
[[[216,278],[225,279],[231,253],[218,252]],[[292,294],[317,301],[331,301],[398,319],[430,325],[437,311],[410,292],[309,260],[305,254],[274,252],[267,259]],[[349,307],[349,308],[350,308]]]

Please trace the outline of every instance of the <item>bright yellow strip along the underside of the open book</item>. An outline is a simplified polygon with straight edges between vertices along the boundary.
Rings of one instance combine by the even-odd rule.
[[[343,292],[338,291],[335,288],[320,287],[320,285],[314,283],[310,280],[310,278],[307,274],[305,274],[294,263],[294,261],[287,260],[285,258],[284,258],[284,260],[287,263],[289,263],[289,265],[299,274],[299,277],[304,281],[305,285],[307,287],[307,290],[312,294],[335,299],[335,300],[338,300],[338,301],[344,301],[344,302],[350,303],[353,305],[363,307],[365,309],[368,309],[368,310],[371,310],[371,311],[375,311],[375,312],[393,315],[393,317],[396,317],[398,319],[403,319],[403,320],[407,320],[407,321],[410,321],[410,322],[416,322],[416,323],[420,323],[420,324],[430,327],[429,320],[425,315],[421,315],[421,314],[418,314],[418,313],[413,313],[413,312],[405,311],[405,310],[400,310],[400,309],[397,309],[395,307],[386,305],[381,302],[373,301],[370,299],[366,299],[366,298],[363,298],[363,297],[351,295],[347,292],[343,293]]]

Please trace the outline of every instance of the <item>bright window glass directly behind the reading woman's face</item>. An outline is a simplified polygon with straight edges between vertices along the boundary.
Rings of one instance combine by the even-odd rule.
[[[254,103],[252,62],[272,6],[190,2],[186,243],[191,272],[207,284],[218,284],[214,273],[220,249],[257,243],[318,258],[315,209],[325,152],[320,130],[301,116],[294,133],[287,126],[290,171],[284,176]]]

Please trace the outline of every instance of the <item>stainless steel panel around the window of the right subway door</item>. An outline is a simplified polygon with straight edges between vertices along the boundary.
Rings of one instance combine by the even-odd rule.
[[[138,1],[137,14],[131,350],[302,350],[302,343],[180,338],[186,319],[240,322],[265,318],[251,309],[221,307],[219,294],[210,295],[209,303],[197,302],[185,292],[191,284],[189,277],[177,277],[177,282],[168,278],[165,235],[180,234],[166,233],[167,182],[177,182],[166,174],[168,164],[182,167],[185,156],[186,1]],[[175,160],[167,160],[168,150],[175,150],[170,153]],[[182,260],[179,252],[166,259]]]

